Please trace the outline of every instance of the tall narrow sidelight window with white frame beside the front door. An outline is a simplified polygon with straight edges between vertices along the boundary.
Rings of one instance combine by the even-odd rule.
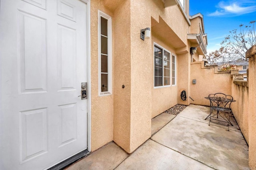
[[[112,93],[112,21],[111,17],[98,13],[99,37],[99,94]]]

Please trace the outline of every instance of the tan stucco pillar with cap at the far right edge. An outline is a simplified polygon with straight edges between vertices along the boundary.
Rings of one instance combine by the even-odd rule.
[[[256,45],[246,52],[246,58],[249,58],[249,165],[251,169],[256,169]]]

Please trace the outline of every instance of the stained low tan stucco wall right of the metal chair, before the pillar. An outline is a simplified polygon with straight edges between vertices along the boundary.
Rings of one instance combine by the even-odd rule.
[[[248,134],[248,87],[234,84],[232,82],[232,97],[236,102],[231,104],[232,112],[236,118],[241,132],[247,143],[249,143]]]

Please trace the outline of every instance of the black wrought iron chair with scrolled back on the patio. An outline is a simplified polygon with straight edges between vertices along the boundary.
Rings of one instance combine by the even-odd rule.
[[[228,131],[229,131],[229,125],[232,125],[232,123],[230,122],[230,114],[232,113],[230,105],[233,101],[233,97],[223,93],[210,94],[208,97],[210,100],[209,126],[212,120],[227,122],[228,125],[226,126],[228,126]],[[213,111],[216,111],[217,113],[213,115]],[[222,116],[220,112],[224,113],[224,115]],[[215,115],[217,115],[217,119],[212,118]],[[222,120],[218,119],[219,116],[222,117],[223,119]],[[218,123],[218,122],[213,122],[213,123]]]

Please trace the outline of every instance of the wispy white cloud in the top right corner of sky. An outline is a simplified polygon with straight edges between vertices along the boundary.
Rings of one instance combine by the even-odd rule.
[[[221,1],[218,3],[217,10],[209,16],[224,16],[224,15],[243,15],[248,14],[256,11],[255,1],[242,1],[242,2],[229,2],[228,4]],[[253,5],[252,5],[253,4]]]

